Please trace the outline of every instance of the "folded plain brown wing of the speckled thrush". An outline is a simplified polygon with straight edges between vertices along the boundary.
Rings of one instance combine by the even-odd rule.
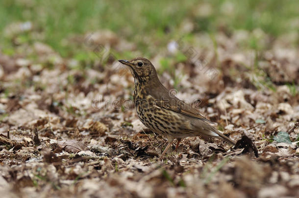
[[[153,97],[155,98],[155,103],[158,107],[172,110],[174,112],[181,113],[190,117],[198,118],[205,122],[213,123],[200,115],[198,110],[194,109],[190,104],[187,104],[174,95],[169,94],[169,91],[165,87],[163,89],[165,90],[153,92]]]

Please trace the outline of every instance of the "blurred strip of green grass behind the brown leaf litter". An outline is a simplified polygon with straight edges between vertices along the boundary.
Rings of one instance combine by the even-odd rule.
[[[198,32],[221,31],[229,36],[234,30],[260,28],[273,38],[298,32],[298,10],[298,0],[1,0],[0,46],[2,53],[12,55],[16,43],[40,41],[62,57],[82,57],[80,45],[66,39],[109,29],[136,44],[144,56],[152,56],[158,51],[149,45],[165,47],[172,39]],[[188,33],[181,30],[186,21],[195,25]],[[30,22],[35,34],[5,33],[15,22]],[[249,39],[248,47],[257,45],[254,38]]]

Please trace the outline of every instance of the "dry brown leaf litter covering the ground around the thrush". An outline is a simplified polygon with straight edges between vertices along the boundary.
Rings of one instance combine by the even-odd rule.
[[[201,101],[199,112],[239,140],[237,147],[188,137],[163,160],[167,140],[138,120],[132,77],[113,69],[114,57],[105,55],[106,66],[95,62],[78,69],[77,60],[61,58],[43,43],[26,45],[30,50],[24,53],[39,53],[35,61],[27,54],[0,54],[2,197],[298,196],[299,51],[276,41],[256,70],[249,68],[252,53],[239,49],[238,34],[216,35],[220,67],[212,41],[197,36],[193,45],[202,47],[194,49],[209,70],[218,71],[213,80],[191,60],[172,63],[184,76],[178,96]],[[136,50],[107,30],[92,38],[108,51]],[[157,68],[167,53],[152,57]],[[169,89],[175,85],[171,75],[167,70],[160,75]]]

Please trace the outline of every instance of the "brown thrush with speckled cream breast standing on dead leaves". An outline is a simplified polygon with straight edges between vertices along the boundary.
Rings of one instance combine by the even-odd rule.
[[[211,136],[236,145],[235,141],[213,127],[213,122],[165,88],[148,59],[137,57],[118,61],[128,66],[134,77],[133,102],[140,121],[152,132],[168,139],[160,157],[164,156],[174,139],[177,140],[176,151],[181,139],[191,136]]]

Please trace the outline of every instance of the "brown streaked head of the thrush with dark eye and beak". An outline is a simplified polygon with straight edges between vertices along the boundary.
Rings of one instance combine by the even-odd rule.
[[[155,67],[146,58],[135,58],[131,61],[119,60],[120,63],[129,66],[135,79],[140,83],[156,80],[157,73]]]

